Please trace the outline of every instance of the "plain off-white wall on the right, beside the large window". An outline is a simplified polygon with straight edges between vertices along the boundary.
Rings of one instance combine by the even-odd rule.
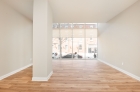
[[[98,58],[140,77],[140,1],[98,28]]]

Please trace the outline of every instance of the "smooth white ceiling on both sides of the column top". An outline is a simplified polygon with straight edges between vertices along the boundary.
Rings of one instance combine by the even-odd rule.
[[[33,0],[4,0],[33,20]],[[138,0],[49,0],[54,23],[107,22]]]

